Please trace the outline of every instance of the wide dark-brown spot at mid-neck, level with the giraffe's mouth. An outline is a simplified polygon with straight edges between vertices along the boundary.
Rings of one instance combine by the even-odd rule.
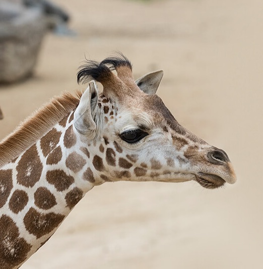
[[[58,169],[47,171],[46,180],[48,183],[54,185],[57,191],[67,190],[74,182],[72,176],[68,176],[64,171]]]

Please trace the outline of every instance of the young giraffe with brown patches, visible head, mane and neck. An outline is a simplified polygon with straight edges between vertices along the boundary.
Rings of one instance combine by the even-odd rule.
[[[0,143],[1,268],[20,267],[104,182],[236,181],[227,154],[182,127],[156,95],[162,77],[135,81],[121,53],[88,61],[78,72],[83,93],[54,97]]]

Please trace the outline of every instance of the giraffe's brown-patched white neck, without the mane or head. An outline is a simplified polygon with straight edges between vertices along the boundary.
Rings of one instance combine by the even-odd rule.
[[[0,170],[0,268],[18,268],[103,183],[72,120],[73,113]]]

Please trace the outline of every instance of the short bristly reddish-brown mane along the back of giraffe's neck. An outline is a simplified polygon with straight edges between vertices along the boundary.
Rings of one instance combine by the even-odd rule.
[[[76,93],[76,96],[64,92],[60,96],[53,97],[22,122],[0,142],[0,167],[19,156],[52,129],[56,123],[75,110],[81,96],[80,91]]]

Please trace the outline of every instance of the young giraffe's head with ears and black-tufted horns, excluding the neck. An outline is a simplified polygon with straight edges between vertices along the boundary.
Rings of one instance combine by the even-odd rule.
[[[182,127],[155,94],[162,76],[163,71],[157,71],[135,81],[123,55],[101,63],[89,61],[79,71],[78,81],[88,81],[89,86],[75,112],[74,127],[93,151],[94,177],[194,180],[206,188],[234,183],[225,151]],[[103,85],[102,93],[90,78]]]

